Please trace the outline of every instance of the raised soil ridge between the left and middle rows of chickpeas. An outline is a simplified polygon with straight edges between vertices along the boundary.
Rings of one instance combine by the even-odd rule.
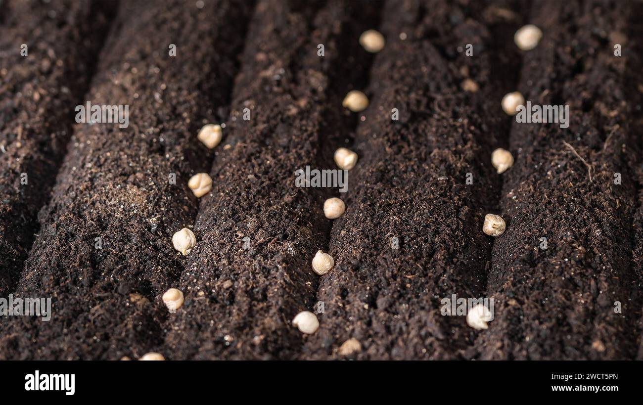
[[[314,307],[311,260],[330,221],[320,191],[297,188],[294,173],[322,168],[320,145],[341,136],[345,86],[368,60],[359,33],[377,22],[379,6],[257,5],[212,192],[195,224],[197,246],[178,287],[185,305],[167,323],[168,357],[296,356],[302,334],[291,320]]]

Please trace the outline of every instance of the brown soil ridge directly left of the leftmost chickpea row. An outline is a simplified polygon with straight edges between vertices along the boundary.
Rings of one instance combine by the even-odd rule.
[[[129,127],[75,127],[17,291],[53,298],[53,317],[10,321],[0,357],[135,358],[163,340],[160,296],[183,266],[172,235],[197,214],[186,183],[212,160],[196,135],[227,115],[251,15],[202,5],[122,4],[87,100],[129,105]]]

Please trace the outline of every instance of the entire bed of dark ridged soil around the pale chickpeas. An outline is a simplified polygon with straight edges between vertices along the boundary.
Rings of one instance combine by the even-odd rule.
[[[608,0],[0,4],[0,297],[53,300],[48,322],[0,317],[0,359],[643,358],[641,17]],[[520,51],[527,23],[544,37]],[[341,106],[352,89],[363,113]],[[516,123],[516,90],[569,105],[569,128]],[[75,124],[87,100],[129,105],[129,127]],[[213,150],[204,123],[224,124]],[[338,147],[359,155],[346,194],[295,186]],[[493,298],[489,329],[443,316],[453,294]],[[318,302],[304,335],[291,321]]]

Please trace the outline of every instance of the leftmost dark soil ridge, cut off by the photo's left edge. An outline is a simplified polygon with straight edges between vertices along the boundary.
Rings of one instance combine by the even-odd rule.
[[[118,3],[10,1],[0,27],[0,297],[17,284]]]

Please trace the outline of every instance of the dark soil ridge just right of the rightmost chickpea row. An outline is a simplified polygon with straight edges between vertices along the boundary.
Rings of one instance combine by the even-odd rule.
[[[488,293],[495,315],[476,341],[482,359],[633,355],[634,152],[626,57],[613,49],[627,19],[616,5],[532,6],[530,22],[544,36],[525,55],[518,90],[532,104],[568,105],[569,127],[512,125],[516,162],[503,174],[507,231],[493,246]]]

